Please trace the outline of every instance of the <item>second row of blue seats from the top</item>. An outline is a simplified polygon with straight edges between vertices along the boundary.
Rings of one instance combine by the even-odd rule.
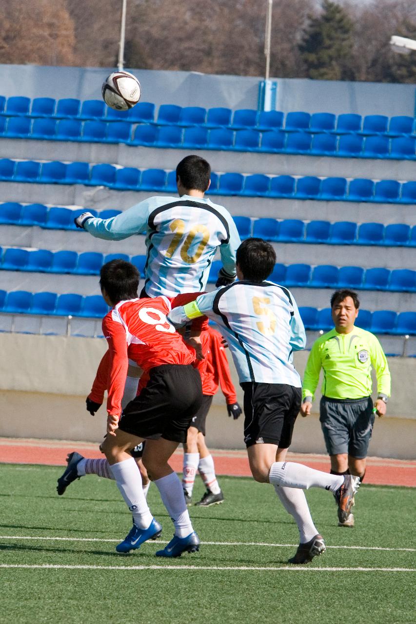
[[[0,136],[8,139],[46,139],[125,143],[146,147],[235,150],[360,158],[416,158],[416,138],[358,134],[308,134],[280,130],[231,130],[179,126],[137,125],[127,122],[78,121],[0,117]]]

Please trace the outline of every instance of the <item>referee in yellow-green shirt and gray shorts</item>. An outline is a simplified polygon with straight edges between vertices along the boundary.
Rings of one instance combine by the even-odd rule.
[[[324,369],[320,424],[330,456],[331,474],[365,475],[365,461],[375,414],[384,416],[390,396],[390,371],[374,334],[354,325],[360,301],[352,290],[337,290],[331,300],[335,328],[312,346],[307,361],[302,416],[309,416],[314,392]],[[371,369],[377,376],[377,401],[371,399]],[[340,527],[354,527],[354,515],[338,515]]]

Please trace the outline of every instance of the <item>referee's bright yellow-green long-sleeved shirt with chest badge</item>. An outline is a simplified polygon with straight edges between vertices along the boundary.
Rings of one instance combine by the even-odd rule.
[[[349,334],[339,334],[332,329],[320,336],[310,350],[302,396],[314,397],[321,368],[324,369],[324,396],[332,399],[370,396],[372,367],[377,375],[377,392],[390,396],[389,365],[374,334],[355,326]]]

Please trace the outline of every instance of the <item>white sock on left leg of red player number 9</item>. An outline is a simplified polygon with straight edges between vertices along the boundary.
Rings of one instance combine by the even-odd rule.
[[[132,512],[134,524],[139,529],[147,529],[153,516],[147,507],[142,488],[142,475],[136,462],[130,457],[130,459],[113,464],[111,471],[127,507]]]

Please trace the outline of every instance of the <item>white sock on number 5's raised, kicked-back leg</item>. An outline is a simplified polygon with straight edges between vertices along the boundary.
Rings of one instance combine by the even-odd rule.
[[[344,476],[320,472],[294,462],[274,462],[270,468],[269,481],[272,485],[300,487],[302,490],[322,487],[335,492],[344,483]]]

